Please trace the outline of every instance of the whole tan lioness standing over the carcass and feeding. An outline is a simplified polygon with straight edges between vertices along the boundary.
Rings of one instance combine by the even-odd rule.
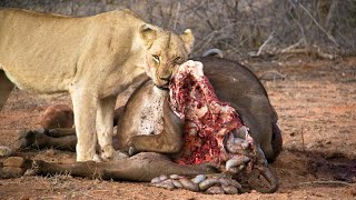
[[[151,26],[129,10],[72,18],[0,10],[0,110],[16,84],[36,93],[69,92],[78,137],[77,160],[111,159],[117,96],[146,77],[167,87],[194,43]]]

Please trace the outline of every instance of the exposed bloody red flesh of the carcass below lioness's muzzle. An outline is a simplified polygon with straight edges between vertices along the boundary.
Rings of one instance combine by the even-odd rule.
[[[181,64],[170,83],[170,103],[185,121],[181,164],[220,163],[228,159],[225,137],[244,126],[236,110],[218,100],[202,64],[187,61]]]

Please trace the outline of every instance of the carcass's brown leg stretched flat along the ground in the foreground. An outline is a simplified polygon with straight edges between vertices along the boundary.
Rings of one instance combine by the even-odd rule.
[[[11,159],[11,157],[9,159]],[[3,167],[7,167],[6,162],[7,161],[4,161]],[[20,164],[20,167],[27,169],[34,167],[34,172],[37,174],[58,174],[67,172],[75,177],[145,182],[148,182],[160,174],[197,176],[217,172],[212,163],[180,166],[171,162],[166,156],[154,152],[142,152],[128,159],[108,162],[86,161],[53,163],[42,160],[26,160],[24,163],[27,164]]]

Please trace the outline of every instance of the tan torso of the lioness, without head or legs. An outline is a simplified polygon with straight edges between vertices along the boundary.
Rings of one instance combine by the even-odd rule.
[[[145,73],[145,59],[135,49],[141,24],[125,11],[71,18],[1,10],[0,70],[20,89],[38,93],[73,84],[87,84],[100,96],[118,93]]]

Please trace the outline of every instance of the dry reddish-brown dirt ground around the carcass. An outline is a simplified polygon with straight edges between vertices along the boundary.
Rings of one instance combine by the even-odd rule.
[[[284,151],[271,164],[280,181],[276,193],[209,196],[59,174],[0,180],[0,199],[356,199],[356,58],[246,64],[265,77],[270,78],[270,71],[286,76],[264,81],[284,137]],[[14,147],[19,129],[39,128],[44,109],[63,102],[69,99],[39,99],[16,90],[0,113],[0,144]],[[75,158],[52,149],[23,154],[53,161]]]

